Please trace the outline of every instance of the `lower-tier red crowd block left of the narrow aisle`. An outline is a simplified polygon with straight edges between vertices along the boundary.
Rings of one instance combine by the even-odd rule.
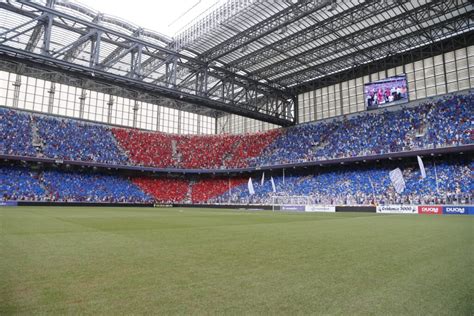
[[[173,178],[135,178],[133,183],[158,202],[182,202],[188,193],[189,181]]]

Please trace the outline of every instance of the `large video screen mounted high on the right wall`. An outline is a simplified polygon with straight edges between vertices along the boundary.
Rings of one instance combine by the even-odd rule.
[[[407,76],[405,74],[364,85],[367,110],[408,102]]]

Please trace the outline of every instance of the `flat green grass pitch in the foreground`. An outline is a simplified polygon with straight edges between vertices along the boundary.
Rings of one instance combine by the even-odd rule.
[[[474,216],[0,208],[0,315],[472,315]]]

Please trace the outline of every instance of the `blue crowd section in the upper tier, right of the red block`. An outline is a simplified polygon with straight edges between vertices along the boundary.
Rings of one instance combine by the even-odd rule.
[[[363,112],[286,129],[254,166],[367,156],[473,143],[474,95],[447,95],[414,107]]]

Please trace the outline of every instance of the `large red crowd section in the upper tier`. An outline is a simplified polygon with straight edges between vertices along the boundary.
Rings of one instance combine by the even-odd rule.
[[[248,135],[173,135],[114,128],[132,163],[157,168],[220,169],[249,167],[249,162],[281,130]]]

